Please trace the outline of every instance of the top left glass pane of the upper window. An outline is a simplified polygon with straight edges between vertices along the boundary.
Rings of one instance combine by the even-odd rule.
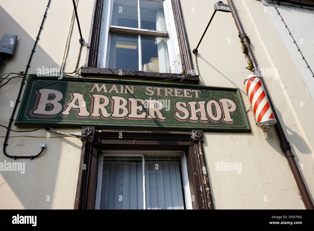
[[[138,1],[114,0],[111,25],[138,28]]]

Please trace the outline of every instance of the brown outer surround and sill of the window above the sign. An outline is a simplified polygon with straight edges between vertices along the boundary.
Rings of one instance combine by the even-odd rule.
[[[157,73],[157,72],[144,72],[144,71],[128,71],[122,70],[119,73],[117,69],[109,68],[97,68],[97,56],[99,47],[99,37],[101,30],[101,15],[102,15],[102,4],[103,0],[95,0],[94,10],[92,15],[92,23],[89,33],[87,55],[85,59],[85,67],[81,68],[82,76],[110,76],[110,77],[138,77],[143,79],[155,79],[155,80],[165,80],[171,78],[184,78],[190,77],[189,74],[172,74],[172,73]],[[180,0],[171,0],[173,14],[176,24],[176,32],[178,36],[179,50],[181,55],[181,61],[184,70],[193,70],[193,61],[191,55],[191,49],[187,39],[187,32],[184,24],[184,19],[182,15]],[[93,67],[94,66],[94,67]],[[122,75],[121,75],[122,74]],[[185,79],[192,83],[199,83],[198,75],[193,75],[194,77]]]

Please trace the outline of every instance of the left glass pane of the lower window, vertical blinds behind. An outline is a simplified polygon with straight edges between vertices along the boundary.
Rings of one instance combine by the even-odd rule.
[[[143,209],[142,158],[104,158],[100,209]]]

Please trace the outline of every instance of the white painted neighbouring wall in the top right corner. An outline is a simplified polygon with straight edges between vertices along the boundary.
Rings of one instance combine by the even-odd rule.
[[[311,71],[307,68],[305,61],[303,60],[298,48],[293,42],[292,37],[289,35],[289,31],[285,27],[284,23],[281,21],[276,9],[273,7],[272,3],[264,4],[265,10],[273,22],[284,46],[289,52],[290,57],[295,64],[295,67],[299,71],[302,79],[311,93],[312,98],[314,98],[314,77]],[[284,22],[288,26],[292,36],[294,37],[298,47],[300,48],[303,56],[305,57],[307,63],[314,72],[314,8],[300,8],[294,6],[287,6],[281,4],[275,4],[278,8],[279,13],[284,19]]]

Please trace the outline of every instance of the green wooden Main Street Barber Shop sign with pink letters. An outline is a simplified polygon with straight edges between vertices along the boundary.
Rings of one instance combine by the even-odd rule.
[[[30,76],[15,125],[250,132],[239,89]],[[47,86],[49,85],[49,86]]]

